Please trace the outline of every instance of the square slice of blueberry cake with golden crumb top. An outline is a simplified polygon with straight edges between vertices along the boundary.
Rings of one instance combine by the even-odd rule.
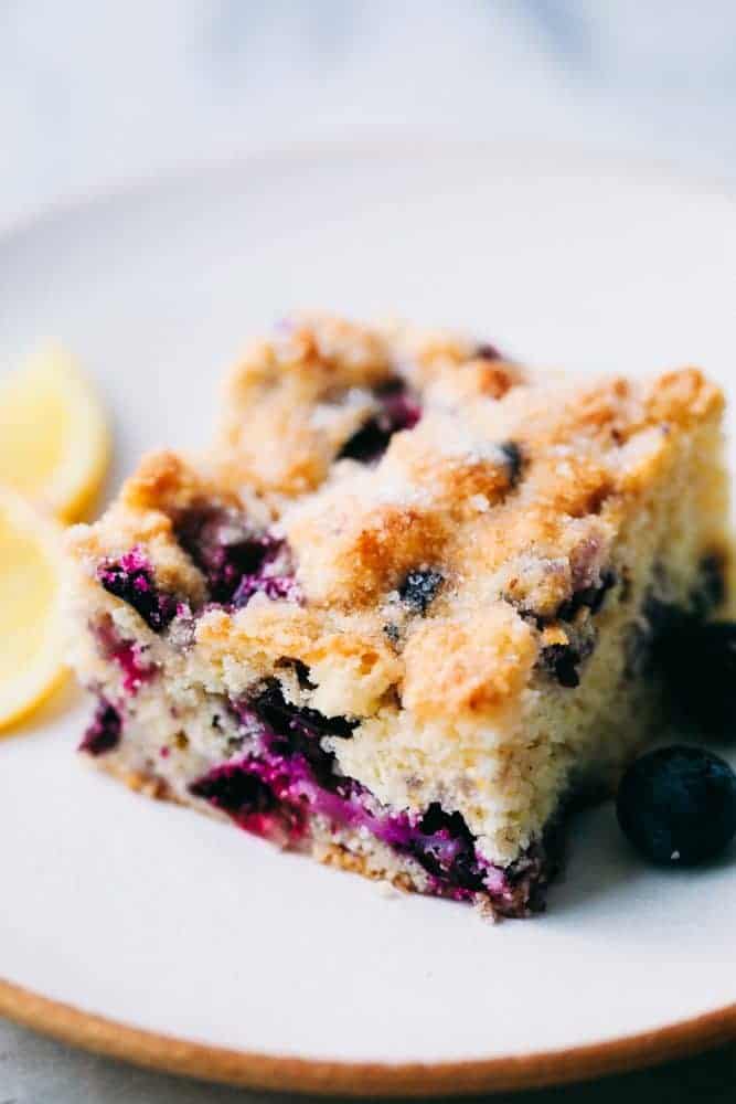
[[[725,601],[723,396],[491,346],[285,323],[204,458],[71,537],[83,752],[280,847],[540,910],[569,803],[666,708],[657,641]]]

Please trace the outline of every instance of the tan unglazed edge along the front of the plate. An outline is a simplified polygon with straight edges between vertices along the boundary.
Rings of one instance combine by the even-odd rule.
[[[137,1065],[249,1089],[351,1096],[478,1093],[584,1081],[736,1039],[736,1004],[653,1031],[526,1057],[439,1062],[310,1061],[207,1047],[116,1023],[0,979],[0,1016]]]

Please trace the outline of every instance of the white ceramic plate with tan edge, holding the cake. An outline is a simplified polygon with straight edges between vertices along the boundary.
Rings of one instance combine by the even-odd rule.
[[[119,476],[204,443],[223,369],[295,306],[470,327],[575,369],[695,361],[730,385],[735,257],[732,201],[654,172],[428,142],[274,153],[7,235],[0,355],[45,335],[78,353]],[[83,723],[57,702],[0,742],[9,1015],[354,1092],[579,1076],[736,1031],[734,853],[655,872],[609,804],[577,821],[547,915],[491,926],[134,795],[75,757]]]

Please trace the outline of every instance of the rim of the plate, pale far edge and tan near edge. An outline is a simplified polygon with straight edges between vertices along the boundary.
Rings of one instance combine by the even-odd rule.
[[[249,166],[278,164],[289,158],[319,156],[405,155],[445,147],[461,156],[509,157],[515,168],[530,162],[551,172],[615,171],[636,182],[670,183],[736,203],[727,178],[686,172],[664,158],[627,156],[568,141],[471,138],[457,131],[420,127],[370,127],[359,136],[331,134],[314,138],[257,142],[226,158],[180,164],[170,170],[105,182],[72,192],[35,210],[0,220],[0,251],[49,225],[85,210],[99,210],[150,191],[188,187],[202,177],[237,174]],[[182,1039],[96,1012],[85,1011],[0,977],[0,1016],[61,1042],[108,1058],[180,1076],[256,1090],[319,1095],[439,1096],[537,1089],[604,1076],[682,1058],[736,1040],[736,1001],[707,1012],[630,1036],[526,1054],[440,1062],[381,1062],[311,1059],[217,1047]]]

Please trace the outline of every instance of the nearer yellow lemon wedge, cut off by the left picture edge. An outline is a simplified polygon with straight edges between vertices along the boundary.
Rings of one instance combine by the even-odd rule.
[[[0,729],[65,675],[62,527],[0,486]]]

